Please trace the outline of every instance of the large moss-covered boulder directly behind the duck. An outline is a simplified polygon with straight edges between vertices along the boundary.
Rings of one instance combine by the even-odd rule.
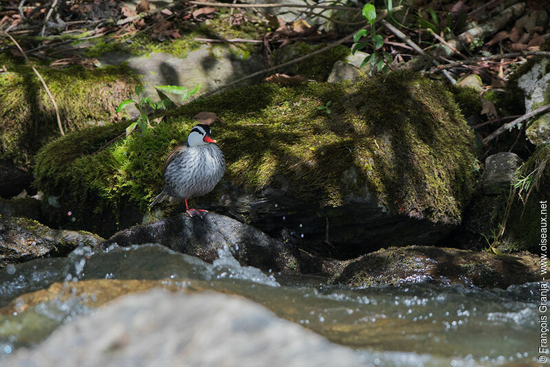
[[[331,113],[318,109],[329,101]],[[78,217],[121,218],[128,204],[146,212],[162,190],[164,158],[186,140],[199,111],[228,122],[212,129],[227,159],[225,178],[201,204],[270,233],[286,227],[308,245],[326,239],[327,221],[329,241],[355,254],[433,243],[460,223],[474,188],[473,138],[459,108],[439,82],[408,71],[357,85],[232,89],[95,155],[125,126],[73,133],[41,150],[35,184],[61,195],[78,213],[75,225],[88,230],[100,228]]]

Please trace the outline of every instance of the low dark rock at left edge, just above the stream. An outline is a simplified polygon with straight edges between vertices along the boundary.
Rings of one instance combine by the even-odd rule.
[[[0,216],[0,269],[43,256],[65,256],[78,245],[96,247],[102,238],[83,231],[52,230],[32,219]]]

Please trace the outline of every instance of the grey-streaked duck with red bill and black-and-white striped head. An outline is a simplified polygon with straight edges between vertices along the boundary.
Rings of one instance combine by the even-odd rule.
[[[168,155],[162,167],[164,188],[149,208],[165,199],[185,201],[188,216],[204,219],[208,210],[190,209],[187,199],[200,197],[214,190],[225,173],[225,156],[207,124],[194,126],[187,142],[179,144]]]

